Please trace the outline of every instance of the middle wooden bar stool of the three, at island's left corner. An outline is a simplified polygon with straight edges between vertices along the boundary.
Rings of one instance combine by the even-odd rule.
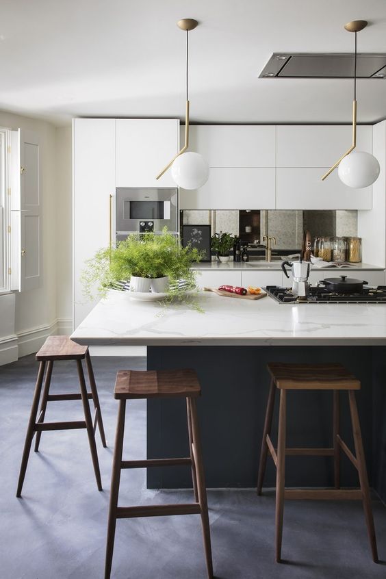
[[[118,372],[114,398],[120,400],[110,489],[110,509],[107,524],[105,579],[110,579],[116,519],[130,517],[159,517],[164,515],[201,515],[207,575],[213,578],[211,541],[207,507],[207,491],[198,431],[196,397],[201,387],[194,370],[124,370]],[[182,459],[149,459],[123,461],[126,400],[133,398],[186,398],[190,456]],[[146,506],[118,506],[120,471],[125,468],[190,465],[194,489],[193,503],[159,504]]]

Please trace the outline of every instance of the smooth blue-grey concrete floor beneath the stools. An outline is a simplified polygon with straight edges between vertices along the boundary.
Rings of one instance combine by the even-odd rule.
[[[85,430],[42,433],[23,488],[16,482],[37,365],[33,356],[0,368],[0,578],[99,579],[117,402],[118,369],[144,368],[141,358],[94,358],[107,444],[97,439],[103,492],[97,491]],[[77,391],[74,363],[54,366],[52,391]],[[50,402],[46,420],[82,420],[81,402]],[[129,404],[124,456],[145,455],[146,407]],[[121,477],[120,505],[187,502],[188,491],[148,491],[143,470]],[[285,504],[283,558],[274,562],[274,492],[208,492],[214,569],[219,579],[376,579],[384,563],[370,557],[359,502]],[[373,502],[378,550],[386,560],[386,508]],[[205,578],[199,517],[122,519],[117,523],[112,578]]]

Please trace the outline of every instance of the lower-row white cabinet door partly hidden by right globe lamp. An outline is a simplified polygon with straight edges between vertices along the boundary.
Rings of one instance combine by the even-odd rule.
[[[352,189],[329,167],[277,168],[276,209],[371,209],[372,188]]]

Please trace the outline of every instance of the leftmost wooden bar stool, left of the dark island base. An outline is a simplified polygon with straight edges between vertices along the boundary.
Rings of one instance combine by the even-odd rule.
[[[90,381],[91,393],[88,394],[86,381],[83,374],[82,360],[86,358],[86,366],[88,371],[88,378]],[[49,336],[44,342],[42,348],[36,354],[36,360],[39,363],[38,379],[34,392],[34,399],[32,401],[31,414],[29,416],[29,423],[27,428],[27,435],[25,437],[25,444],[23,450],[23,457],[21,459],[20,474],[18,477],[18,487],[16,496],[21,497],[21,490],[27,469],[29,451],[31,450],[31,443],[36,433],[35,452],[39,450],[40,437],[43,430],[66,430],[68,428],[86,428],[88,434],[88,441],[90,443],[90,450],[92,456],[92,463],[94,465],[95,478],[97,479],[97,486],[99,491],[102,490],[101,473],[99,471],[99,462],[97,454],[97,446],[95,444],[95,430],[99,426],[99,433],[101,435],[102,444],[106,446],[105,430],[103,428],[103,421],[101,415],[101,407],[99,404],[97,385],[95,383],[94,372],[90,359],[90,352],[88,346],[79,346],[75,344],[68,336]],[[51,376],[54,361],[60,360],[75,360],[77,362],[77,370],[79,376],[80,394],[49,394],[49,387],[51,385]],[[44,389],[42,394],[42,402],[40,404],[40,413],[38,420],[38,406],[40,394],[42,391],[42,384],[44,379],[44,370],[47,362],[47,372],[45,374]],[[90,404],[88,400],[92,398],[94,402],[94,424],[90,413]],[[84,420],[73,420],[68,422],[44,422],[44,415],[47,409],[47,402],[53,400],[81,400],[83,402]]]

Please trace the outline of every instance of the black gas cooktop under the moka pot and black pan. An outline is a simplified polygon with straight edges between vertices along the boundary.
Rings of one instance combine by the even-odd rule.
[[[291,288],[279,285],[267,285],[263,289],[270,298],[281,304],[386,304],[386,285],[364,286],[362,292],[355,294],[337,294],[315,285],[309,287],[309,295],[305,297],[294,296]]]

